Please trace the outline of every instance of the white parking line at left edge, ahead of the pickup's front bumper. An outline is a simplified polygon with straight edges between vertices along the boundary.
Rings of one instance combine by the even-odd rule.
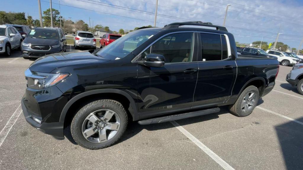
[[[21,104],[18,106],[18,108],[15,110],[15,112],[13,113],[11,118],[8,120],[8,122],[6,123],[6,125],[0,132],[0,147],[3,143],[3,141],[5,140],[6,136],[8,135],[9,131],[11,131],[12,127],[16,123],[18,117],[22,113],[22,109],[20,106],[21,106]]]

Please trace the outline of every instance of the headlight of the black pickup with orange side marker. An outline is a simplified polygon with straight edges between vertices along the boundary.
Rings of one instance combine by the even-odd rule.
[[[30,71],[29,71],[30,72]],[[44,89],[51,87],[59,82],[65,80],[70,74],[68,73],[38,73],[32,72],[30,75],[25,71],[27,79],[27,87],[31,89]]]

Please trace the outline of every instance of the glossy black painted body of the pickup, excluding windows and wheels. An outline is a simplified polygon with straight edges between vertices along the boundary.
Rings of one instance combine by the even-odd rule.
[[[135,121],[176,111],[233,104],[243,88],[253,80],[263,82],[260,97],[275,85],[278,61],[267,57],[238,57],[234,37],[228,32],[203,28],[147,29],[160,32],[119,60],[102,59],[87,51],[60,53],[36,60],[29,67],[31,71],[71,75],[43,90],[26,89],[22,109],[27,121],[42,132],[64,139],[64,122],[71,114],[68,109],[78,100],[93,94],[125,97],[129,100],[129,108],[125,109]],[[226,34],[231,56],[223,61],[205,62],[197,52],[193,62],[167,63],[164,67],[137,64],[136,56],[151,43],[167,33],[180,31]],[[195,33],[195,36],[199,34]],[[199,51],[201,45],[195,48]],[[225,66],[231,67],[225,69]],[[188,69],[197,71],[185,74]],[[33,124],[27,116],[29,114],[41,118],[42,125],[46,127],[42,129],[42,125]]]

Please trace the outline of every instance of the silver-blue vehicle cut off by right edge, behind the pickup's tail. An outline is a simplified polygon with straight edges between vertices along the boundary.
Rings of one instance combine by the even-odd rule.
[[[292,67],[286,76],[286,81],[292,86],[297,86],[298,92],[303,95],[303,63]]]

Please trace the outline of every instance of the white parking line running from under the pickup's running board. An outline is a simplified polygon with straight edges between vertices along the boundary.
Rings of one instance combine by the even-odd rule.
[[[195,136],[191,135],[187,130],[185,130],[181,125],[179,125],[176,121],[171,121],[180,132],[182,132],[188,139],[194,142],[200,149],[202,149],[208,156],[210,156],[214,161],[216,161],[222,168],[226,170],[235,170],[228,163],[226,163],[223,159],[221,159],[215,152],[212,152],[207,146],[205,146],[202,142],[200,142]]]

